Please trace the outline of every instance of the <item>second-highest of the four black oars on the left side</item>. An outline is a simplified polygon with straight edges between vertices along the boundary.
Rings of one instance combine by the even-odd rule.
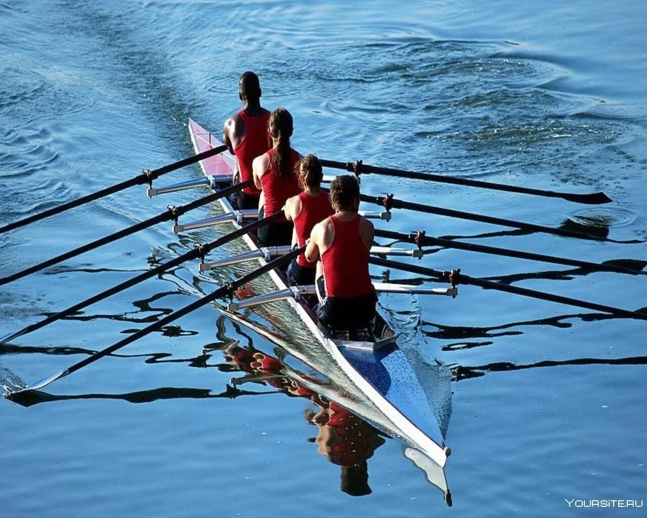
[[[237,183],[236,185],[226,187],[222,190],[209,194],[208,196],[204,196],[203,198],[192,201],[191,203],[187,203],[186,205],[181,205],[180,207],[173,207],[169,205],[168,210],[158,214],[157,216],[153,216],[153,218],[149,218],[148,220],[141,221],[140,223],[135,223],[135,225],[131,225],[126,229],[122,229],[113,234],[110,234],[109,236],[99,238],[97,240],[94,240],[91,243],[86,243],[85,245],[81,245],[80,247],[77,247],[74,250],[57,255],[56,257],[52,257],[47,261],[43,261],[41,263],[35,264],[33,266],[25,268],[24,270],[16,272],[12,275],[1,277],[0,286],[2,286],[3,284],[7,284],[8,282],[17,280],[19,278],[23,278],[29,275],[30,273],[41,271],[42,269],[48,268],[62,261],[65,261],[67,259],[71,259],[72,257],[76,257],[90,250],[94,250],[95,248],[98,248],[100,246],[107,245],[107,243],[112,243],[116,240],[120,240],[121,238],[125,238],[126,236],[130,236],[131,234],[135,234],[135,232],[148,229],[148,227],[157,225],[157,223],[161,223],[162,221],[169,221],[173,219],[177,220],[177,218],[179,216],[182,216],[182,214],[184,214],[185,212],[193,210],[194,208],[197,208],[197,207],[202,207],[203,205],[206,205],[207,203],[211,203],[212,201],[215,201],[221,197],[229,196],[230,194],[237,192],[247,187],[248,185],[252,185],[252,180],[248,180],[243,183]]]

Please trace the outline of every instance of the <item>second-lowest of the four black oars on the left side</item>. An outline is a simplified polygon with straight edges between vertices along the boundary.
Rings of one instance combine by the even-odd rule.
[[[236,229],[234,232],[230,232],[226,236],[218,238],[217,240],[206,243],[204,245],[198,245],[192,250],[188,251],[187,253],[184,253],[181,256],[177,256],[175,259],[172,259],[166,263],[160,264],[159,266],[153,269],[150,269],[148,271],[145,271],[144,273],[140,273],[139,275],[136,275],[133,278],[130,278],[120,284],[117,284],[116,286],[105,289],[101,293],[97,293],[92,297],[86,298],[85,300],[82,300],[82,302],[78,302],[77,304],[74,304],[69,308],[65,308],[65,310],[58,311],[58,313],[55,313],[54,315],[50,315],[46,319],[43,319],[39,322],[35,322],[34,324],[30,324],[27,327],[19,331],[16,331],[15,333],[10,333],[8,335],[5,335],[2,339],[0,339],[0,344],[7,343],[9,341],[16,339],[17,337],[26,335],[27,333],[31,333],[40,328],[43,328],[48,324],[51,324],[52,322],[56,322],[60,319],[68,317],[69,315],[76,313],[76,311],[82,310],[83,308],[86,308],[87,306],[90,306],[95,302],[99,302],[100,300],[104,300],[104,298],[111,297],[112,295],[115,295],[115,293],[124,291],[124,289],[128,289],[129,287],[135,286],[140,282],[144,282],[144,280],[146,279],[153,278],[158,275],[162,275],[162,273],[164,273],[165,271],[168,271],[169,269],[175,266],[178,266],[186,261],[197,259],[199,257],[204,257],[206,254],[216,249],[217,247],[225,245],[226,243],[229,243],[235,240],[236,238],[239,238],[245,234],[248,234],[249,232],[253,232],[256,229],[263,227],[263,225],[267,225],[267,223],[270,223],[270,221],[276,220],[282,214],[283,212],[277,212],[276,214],[272,214],[272,216],[267,216],[267,218],[254,221],[254,223],[250,223],[245,227]]]

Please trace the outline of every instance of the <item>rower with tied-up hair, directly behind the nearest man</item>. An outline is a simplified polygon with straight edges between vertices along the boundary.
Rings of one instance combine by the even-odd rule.
[[[322,164],[315,155],[303,157],[299,163],[299,181],[303,192],[285,202],[285,217],[294,221],[292,246],[302,247],[310,237],[314,225],[334,214],[327,192],[321,190]],[[314,284],[315,264],[304,254],[294,258],[290,265],[296,284]]]

